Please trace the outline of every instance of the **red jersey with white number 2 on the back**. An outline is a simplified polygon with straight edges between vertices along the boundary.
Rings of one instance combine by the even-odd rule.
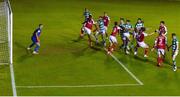
[[[165,36],[158,36],[155,40],[155,46],[157,49],[165,49],[166,48],[166,37]]]

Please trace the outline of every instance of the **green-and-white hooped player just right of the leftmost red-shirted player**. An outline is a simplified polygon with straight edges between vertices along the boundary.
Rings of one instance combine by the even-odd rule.
[[[106,29],[105,29],[105,26],[104,26],[104,21],[103,21],[103,18],[102,16],[99,17],[98,21],[97,21],[97,24],[96,24],[96,34],[95,34],[95,38],[96,38],[96,44],[99,43],[98,41],[98,35],[101,35],[101,38],[102,38],[102,44],[104,46],[106,46],[106,41],[105,41],[105,35],[106,35]]]

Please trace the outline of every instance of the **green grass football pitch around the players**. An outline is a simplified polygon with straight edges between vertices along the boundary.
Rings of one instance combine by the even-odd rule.
[[[0,0],[1,1],[1,0]],[[180,56],[178,70],[172,70],[171,51],[163,67],[156,66],[156,52],[143,57],[125,55],[117,50],[107,55],[100,46],[90,48],[87,36],[78,39],[88,8],[95,20],[103,12],[113,22],[120,17],[132,24],[142,18],[147,33],[154,32],[164,20],[171,33],[180,38],[180,1],[176,0],[11,0],[14,13],[13,52],[14,75],[18,96],[163,96],[180,95]],[[38,24],[44,25],[39,55],[26,48]],[[153,46],[157,34],[145,42]],[[118,42],[121,39],[118,36]],[[108,41],[107,41],[108,43]],[[2,93],[2,94],[1,94]],[[0,96],[12,96],[8,65],[0,65]]]

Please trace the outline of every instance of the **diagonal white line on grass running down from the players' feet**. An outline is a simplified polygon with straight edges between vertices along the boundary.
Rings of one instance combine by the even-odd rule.
[[[106,48],[104,48],[105,51],[108,51]],[[126,68],[126,66],[119,61],[112,53],[110,53],[111,57],[114,58],[138,83],[139,85],[144,85],[129,69]]]

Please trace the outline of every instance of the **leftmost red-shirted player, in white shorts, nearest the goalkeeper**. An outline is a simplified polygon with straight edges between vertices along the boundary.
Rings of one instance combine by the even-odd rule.
[[[89,38],[88,41],[89,41],[90,47],[92,47],[91,32],[92,32],[93,25],[95,25],[95,22],[92,19],[92,16],[90,15],[89,18],[87,19],[87,21],[84,23],[83,28],[82,28],[83,31],[85,32],[85,34],[88,35],[88,38]],[[84,33],[83,33],[83,35],[84,35]]]

